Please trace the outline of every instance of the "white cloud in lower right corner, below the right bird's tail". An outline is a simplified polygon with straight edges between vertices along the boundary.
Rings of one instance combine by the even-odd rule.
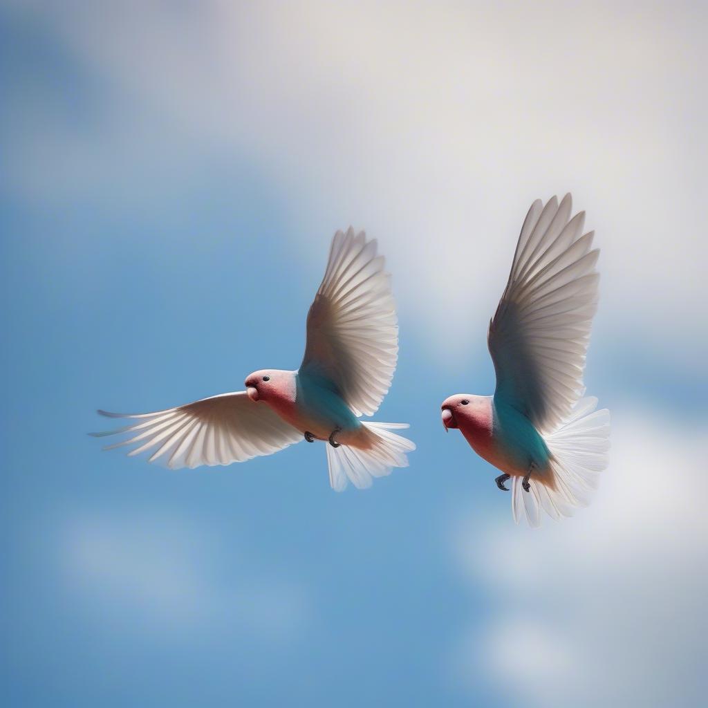
[[[494,598],[486,635],[455,658],[514,700],[692,706],[708,619],[708,425],[619,409],[612,465],[576,518],[534,532],[501,519],[457,532],[459,559]]]

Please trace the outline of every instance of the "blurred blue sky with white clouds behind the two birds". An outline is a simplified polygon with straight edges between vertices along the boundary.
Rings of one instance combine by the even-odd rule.
[[[694,706],[708,619],[708,17],[697,4],[4,2],[11,705]],[[593,505],[515,527],[440,401],[491,393],[525,212],[602,249]],[[379,239],[411,467],[169,472],[148,411],[294,368],[333,232]]]

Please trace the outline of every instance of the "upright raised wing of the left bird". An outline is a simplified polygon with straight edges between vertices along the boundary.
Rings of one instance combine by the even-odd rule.
[[[338,231],[307,314],[300,370],[326,377],[355,415],[371,416],[391,386],[397,358],[398,324],[384,257],[364,232]]]

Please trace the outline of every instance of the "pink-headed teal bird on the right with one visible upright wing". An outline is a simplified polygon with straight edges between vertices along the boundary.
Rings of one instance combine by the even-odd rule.
[[[501,470],[516,523],[541,509],[559,520],[585,506],[607,467],[610,412],[583,399],[583,370],[598,302],[594,232],[585,213],[572,219],[571,195],[536,200],[521,229],[511,272],[487,343],[496,372],[493,396],[455,394],[442,402],[445,430],[458,428],[472,449]]]

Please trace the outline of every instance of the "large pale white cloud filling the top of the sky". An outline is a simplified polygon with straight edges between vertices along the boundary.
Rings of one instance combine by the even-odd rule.
[[[484,332],[531,200],[566,189],[598,231],[610,327],[667,354],[680,337],[701,360],[704,20],[668,3],[156,2],[51,18],[122,87],[138,141],[159,116],[180,151],[255,160],[300,205],[301,232],[351,221],[382,236],[399,299],[426,341],[447,337],[447,362]],[[127,137],[106,137],[119,164]],[[91,160],[91,144],[69,146]],[[464,323],[454,338],[450,322]]]

